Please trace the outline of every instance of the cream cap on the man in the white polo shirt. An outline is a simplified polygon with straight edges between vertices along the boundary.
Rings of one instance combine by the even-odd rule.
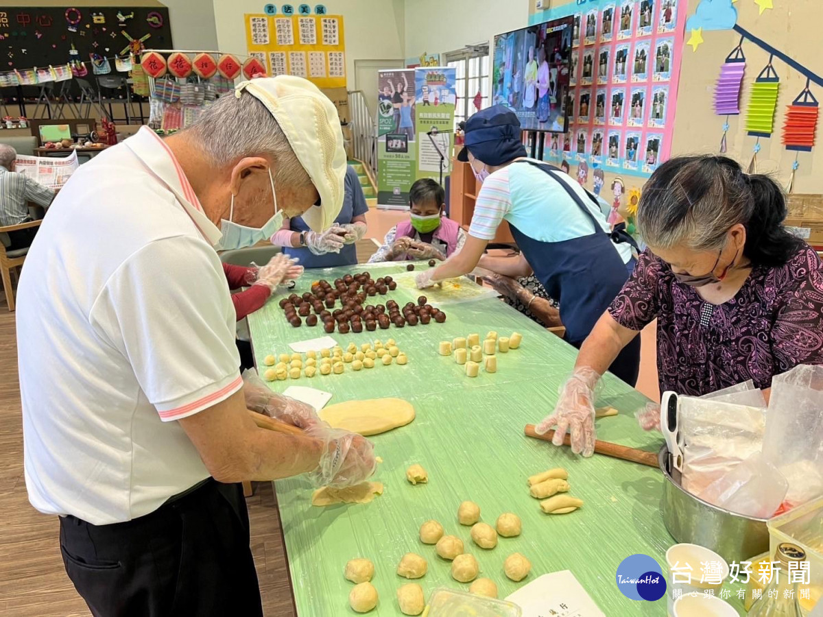
[[[311,81],[279,75],[243,81],[243,91],[266,105],[320,194],[319,207],[302,215],[314,231],[328,230],[340,214],[346,180],[346,151],[337,108]]]

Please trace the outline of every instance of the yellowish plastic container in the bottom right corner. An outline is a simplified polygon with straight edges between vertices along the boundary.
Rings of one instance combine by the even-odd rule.
[[[792,542],[806,551],[811,573],[809,598],[801,596],[803,610],[811,610],[823,596],[823,497],[789,510],[788,513],[770,519],[769,554],[782,542]],[[802,590],[802,585],[799,586]]]

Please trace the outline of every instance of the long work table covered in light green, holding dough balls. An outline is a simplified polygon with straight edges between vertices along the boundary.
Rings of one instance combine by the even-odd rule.
[[[418,263],[417,271],[425,269]],[[306,271],[297,282],[300,295],[312,281],[332,282],[347,273],[368,270],[373,278],[403,276],[405,264],[360,265]],[[474,285],[466,282],[465,285]],[[290,292],[285,292],[288,295]],[[320,327],[293,328],[286,322],[277,295],[249,316],[249,327],[258,366],[268,354],[290,352],[287,345],[323,336]],[[398,304],[415,301],[426,291],[398,285],[386,296],[370,298],[371,304],[395,299]],[[374,302],[374,301],[376,302]],[[385,485],[382,496],[368,504],[313,508],[312,487],[305,478],[275,483],[286,555],[291,571],[295,605],[300,617],[354,615],[348,606],[351,583],[343,578],[348,559],[367,557],[374,562],[372,583],[379,591],[379,605],[370,615],[402,615],[396,592],[406,581],[395,573],[403,554],[421,554],[429,564],[420,582],[428,598],[436,587],[466,590],[468,585],[450,576],[450,562],[440,559],[433,546],[418,538],[422,522],[438,520],[447,534],[460,537],[466,552],[481,566],[480,576],[497,583],[500,597],[508,596],[543,573],[569,569],[609,617],[665,615],[665,599],[631,601],[615,583],[617,566],[631,554],[651,555],[665,568],[664,554],[674,543],[660,515],[663,479],[647,466],[595,455],[575,457],[568,448],[554,448],[523,435],[525,424],[536,424],[557,400],[576,350],[499,299],[483,297],[459,303],[436,303],[446,322],[434,320],[417,327],[340,335],[344,349],[350,342],[393,338],[408,355],[408,364],[377,364],[374,369],[300,378],[271,383],[282,392],[290,385],[317,387],[332,392],[332,403],[400,397],[416,408],[416,420],[401,429],[374,436],[374,448],[383,458],[374,480]],[[498,372],[467,378],[463,366],[438,355],[438,342],[478,332],[482,338],[495,330],[500,336],[523,334],[518,350],[498,354]],[[634,411],[646,399],[617,378],[602,380],[598,406],[611,405],[620,415],[597,420],[597,437],[633,448],[657,452],[659,434],[639,429]],[[429,473],[429,483],[410,485],[408,466],[419,463]],[[543,514],[537,499],[528,494],[526,479],[539,471],[563,466],[569,471],[570,494],[584,500],[584,507],[563,516]],[[463,500],[480,505],[481,520],[495,525],[500,513],[513,512],[523,521],[517,538],[500,538],[493,550],[472,543],[469,527],[457,522]],[[532,573],[514,583],[503,573],[504,559],[524,554]]]

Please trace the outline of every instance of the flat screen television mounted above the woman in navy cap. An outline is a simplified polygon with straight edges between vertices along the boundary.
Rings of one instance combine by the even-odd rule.
[[[567,132],[574,17],[495,36],[491,103],[509,106],[523,129]]]

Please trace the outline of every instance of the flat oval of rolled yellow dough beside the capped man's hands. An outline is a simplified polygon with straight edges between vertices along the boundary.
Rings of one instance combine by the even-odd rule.
[[[321,410],[319,416],[332,428],[368,436],[405,426],[414,420],[414,407],[402,398],[373,398],[337,403]]]

